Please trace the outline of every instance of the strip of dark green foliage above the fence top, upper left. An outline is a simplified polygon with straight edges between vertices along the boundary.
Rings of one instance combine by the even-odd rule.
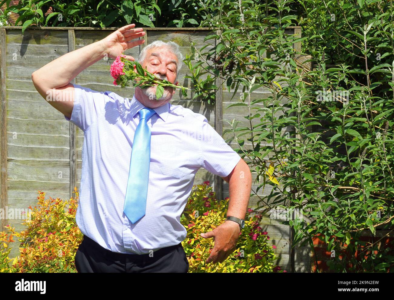
[[[9,4],[9,0],[0,2]],[[52,12],[45,15],[52,7]],[[20,15],[16,26],[23,31],[31,25],[58,27],[122,27],[135,23],[137,27],[196,27],[204,19],[196,13],[198,0],[20,0],[4,13]]]

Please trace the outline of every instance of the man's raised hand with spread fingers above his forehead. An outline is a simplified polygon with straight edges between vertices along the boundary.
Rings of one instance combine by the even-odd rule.
[[[123,54],[125,50],[145,42],[144,39],[138,39],[139,37],[143,37],[145,32],[142,28],[134,28],[135,26],[136,24],[123,26],[100,41],[104,49],[108,52],[108,57],[115,59],[117,56]],[[130,55],[126,55],[125,58],[130,61],[135,60]]]

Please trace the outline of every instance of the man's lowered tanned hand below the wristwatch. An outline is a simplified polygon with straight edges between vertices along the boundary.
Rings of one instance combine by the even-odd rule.
[[[240,226],[236,222],[227,220],[214,230],[201,233],[201,237],[206,239],[213,237],[215,242],[211,255],[205,263],[222,263],[236,249],[240,231]]]

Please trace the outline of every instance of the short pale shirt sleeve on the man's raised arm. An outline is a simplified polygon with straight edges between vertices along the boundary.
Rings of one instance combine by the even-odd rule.
[[[99,115],[104,113],[105,104],[111,98],[108,92],[93,91],[88,87],[73,83],[72,85],[74,86],[74,107],[71,118],[64,117],[85,132],[91,124],[97,121]]]

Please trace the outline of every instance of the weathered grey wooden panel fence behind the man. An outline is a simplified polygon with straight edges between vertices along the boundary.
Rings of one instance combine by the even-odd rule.
[[[38,191],[45,191],[46,198],[70,198],[74,186],[79,190],[82,168],[83,132],[64,116],[50,106],[33,86],[32,73],[67,52],[71,52],[87,44],[103,39],[117,28],[29,28],[22,35],[21,27],[0,27],[0,163],[1,163],[1,198],[0,207],[6,210],[20,211],[36,204]],[[145,43],[129,49],[125,53],[138,57],[140,50],[156,40],[174,41],[180,46],[182,54],[190,53],[190,43],[195,42],[197,48],[206,44],[216,45],[216,41],[204,42],[204,37],[213,32],[207,28],[144,28]],[[287,34],[301,36],[299,27],[288,27]],[[294,48],[300,50],[300,43]],[[123,97],[129,97],[134,89],[115,87],[110,76],[111,59],[101,59],[83,70],[73,81],[96,91],[113,91]],[[190,87],[185,76],[190,73],[186,66],[178,75],[180,84]],[[206,78],[206,77],[203,77]],[[220,82],[218,82],[219,84]],[[224,120],[239,120],[246,125],[245,107],[227,106],[239,101],[240,93],[230,101],[230,94],[224,87],[216,93],[216,104],[191,101],[193,91],[188,90],[188,97],[175,93],[171,104],[188,107],[201,113],[216,131],[222,135],[229,127]],[[267,94],[264,89],[257,89],[252,100]],[[234,100],[235,99],[235,100]],[[237,100],[238,99],[238,100]],[[253,120],[253,124],[258,122]],[[257,124],[257,123],[256,123]],[[227,139],[228,136],[223,136]],[[236,148],[236,142],[229,145]],[[245,142],[246,146],[250,146]],[[217,198],[229,196],[228,183],[219,176],[214,176],[205,169],[200,169],[195,176],[195,184],[209,180],[216,191]],[[253,176],[253,182],[255,176]],[[258,183],[253,184],[256,190]],[[259,195],[266,195],[270,189],[260,190]],[[249,207],[256,207],[258,198],[251,197]],[[6,224],[22,230],[21,219],[2,219],[1,228]],[[261,226],[270,236],[269,242],[277,249],[277,264],[288,270],[294,268],[294,252],[292,252],[291,230],[280,224],[280,220],[264,217]],[[2,229],[0,231],[2,231]],[[18,243],[12,245],[10,257],[19,254]],[[308,253],[309,255],[309,253]],[[293,262],[291,257],[293,257]],[[307,261],[307,259],[305,260]],[[308,268],[307,268],[308,269]]]

